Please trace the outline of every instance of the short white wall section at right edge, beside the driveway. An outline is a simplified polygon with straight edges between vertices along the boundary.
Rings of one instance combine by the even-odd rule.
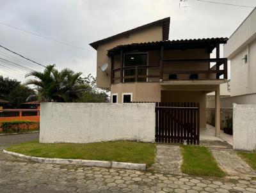
[[[233,148],[256,150],[256,105],[233,105]]]

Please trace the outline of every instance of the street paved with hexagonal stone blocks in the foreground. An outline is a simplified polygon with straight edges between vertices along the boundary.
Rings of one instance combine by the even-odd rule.
[[[1,146],[28,140],[26,135],[5,137]],[[40,164],[0,153],[0,192],[256,192],[256,180]]]

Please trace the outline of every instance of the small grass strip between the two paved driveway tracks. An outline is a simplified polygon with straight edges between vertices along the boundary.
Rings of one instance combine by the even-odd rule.
[[[182,146],[182,172],[195,176],[223,177],[225,173],[218,167],[211,152],[201,146]]]

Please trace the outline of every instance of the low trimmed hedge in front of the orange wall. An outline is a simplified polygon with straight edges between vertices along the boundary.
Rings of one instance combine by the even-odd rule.
[[[33,121],[4,121],[2,122],[3,133],[19,133],[39,129],[39,122]]]

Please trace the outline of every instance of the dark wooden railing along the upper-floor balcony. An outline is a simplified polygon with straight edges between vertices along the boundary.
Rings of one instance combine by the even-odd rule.
[[[189,64],[205,65],[207,70],[182,70],[184,65]],[[211,67],[211,63],[214,65]],[[168,70],[172,69],[172,65],[182,65],[180,70]],[[222,69],[220,67],[223,65]],[[202,69],[202,68],[201,68]],[[206,69],[206,68],[205,68]],[[143,71],[144,70],[144,71]],[[129,75],[127,75],[127,73]],[[191,74],[205,74],[209,77],[204,79],[227,79],[227,58],[214,58],[214,59],[164,59],[160,61],[159,65],[147,65],[147,66],[127,66],[122,68],[113,69],[111,72],[111,83],[118,82],[159,82],[160,79],[164,79],[164,75],[191,75]],[[212,76],[213,75],[213,76]],[[223,77],[221,77],[223,75]],[[210,77],[211,76],[211,77]],[[189,78],[188,78],[189,79]],[[188,80],[186,79],[186,80]],[[196,78],[200,79],[200,78]],[[170,80],[170,79],[164,79]],[[173,79],[172,79],[173,80]]]

